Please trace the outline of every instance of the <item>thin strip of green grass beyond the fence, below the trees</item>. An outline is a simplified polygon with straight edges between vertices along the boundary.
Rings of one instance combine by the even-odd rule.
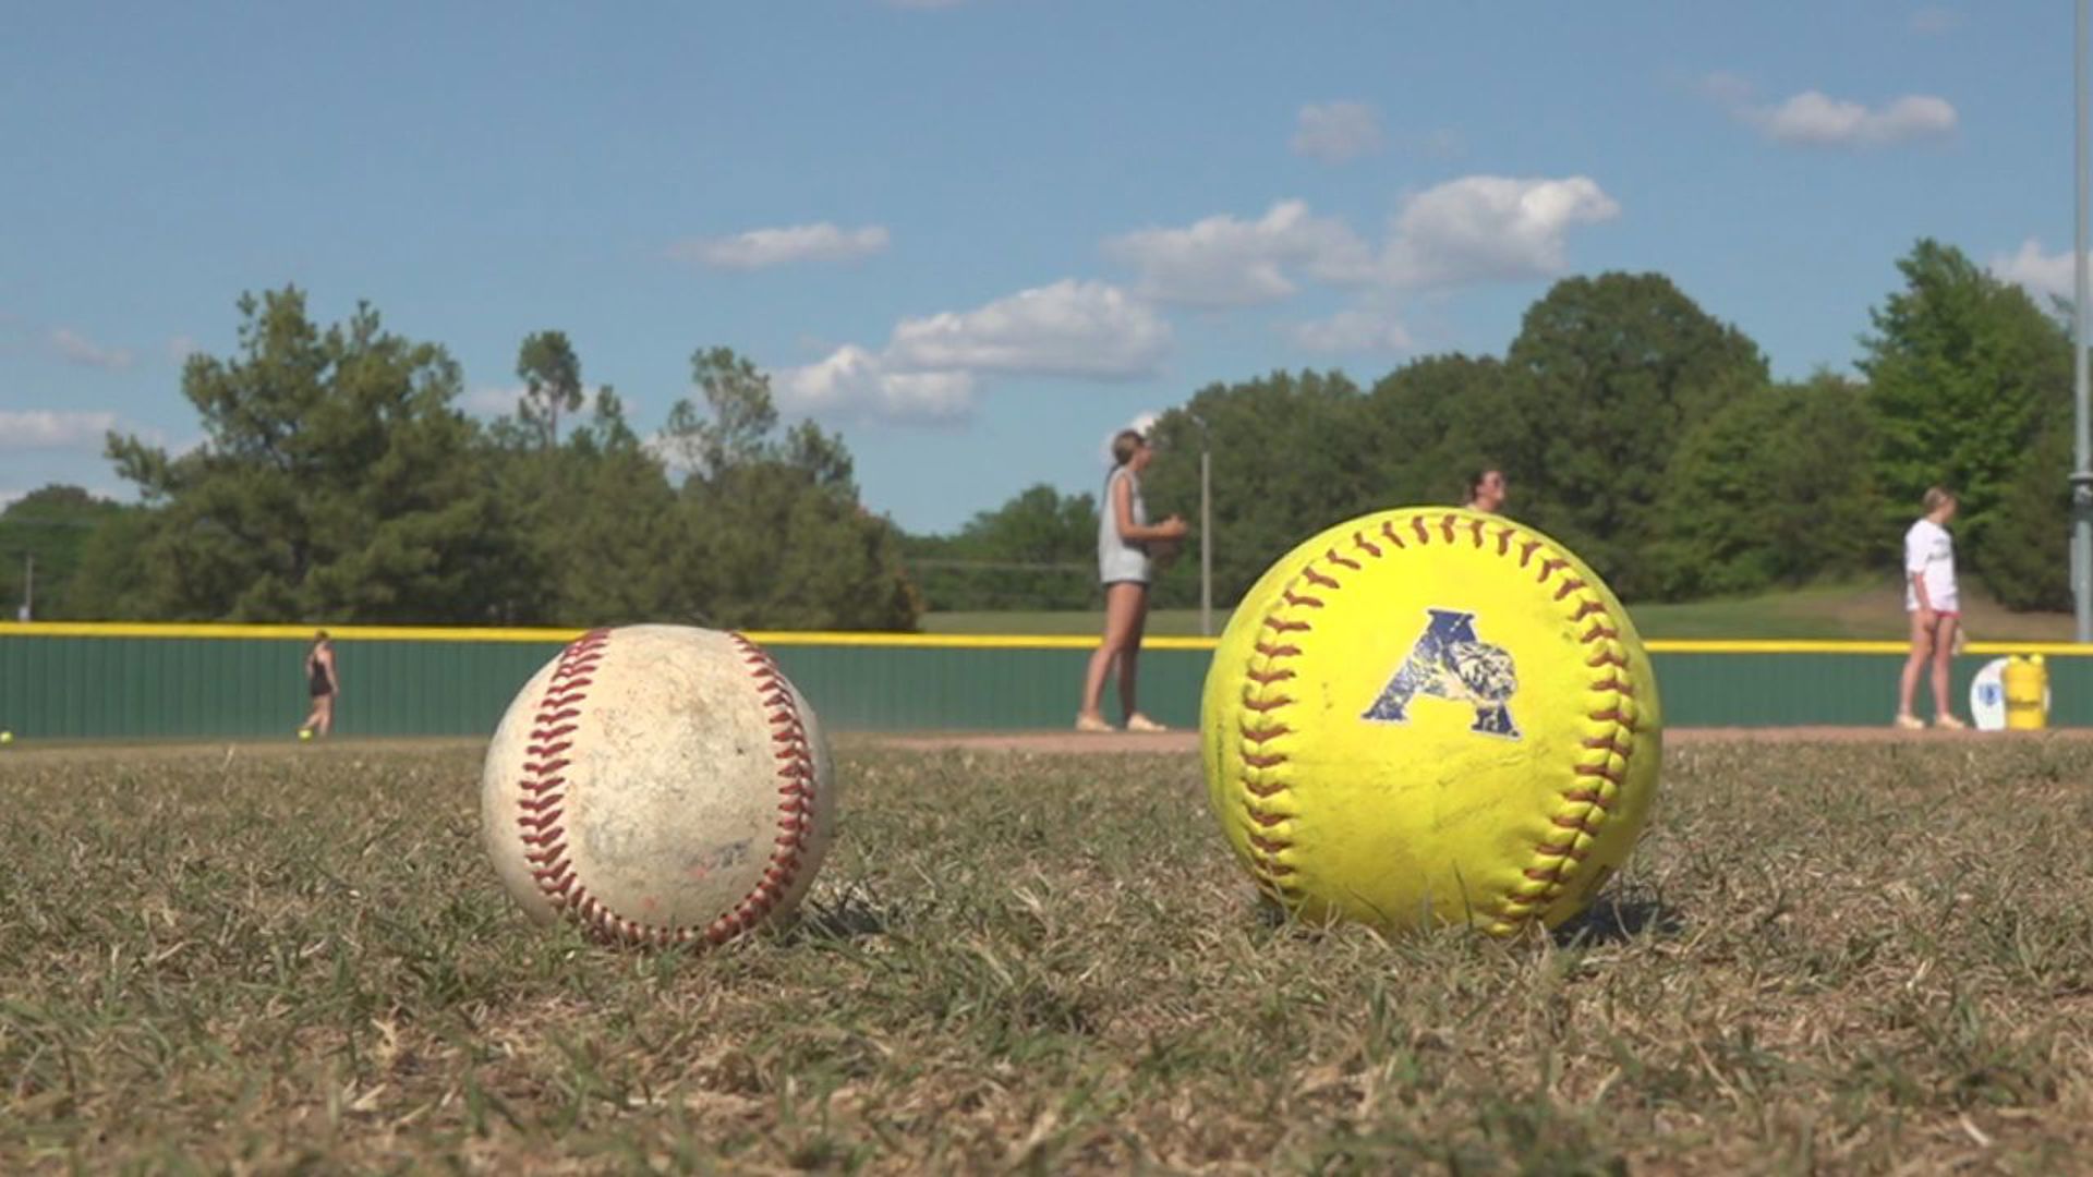
[[[1905,599],[1896,584],[1804,588],[1685,605],[1639,603],[1628,609],[1645,639],[1905,639]],[[1103,612],[929,614],[927,632],[1090,635]],[[2070,614],[2011,614],[1965,588],[1963,620],[1982,641],[2072,641]],[[1214,609],[1214,632],[1229,609]],[[1155,609],[1153,635],[1197,635],[1199,609]]]

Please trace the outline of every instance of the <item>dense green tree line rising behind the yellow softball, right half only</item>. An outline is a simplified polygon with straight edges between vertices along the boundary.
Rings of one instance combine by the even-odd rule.
[[[1900,262],[1871,312],[1859,379],[1769,375],[1760,348],[1662,274],[1555,283],[1503,356],[1411,360],[1360,387],[1275,371],[1201,387],[1155,425],[1151,513],[1197,517],[1212,454],[1214,597],[1331,521],[1461,503],[1482,469],[1507,515],[1553,534],[1628,601],[1896,580],[1928,486],[1961,494],[1957,559],[2007,607],[2070,607],[2068,308],[1938,241]],[[1034,565],[1095,561],[1088,494],[1032,488],[913,553]],[[1197,542],[1197,540],[1195,540]],[[1059,607],[1080,578],[925,578],[931,607]],[[1157,580],[1197,601],[1197,559]]]

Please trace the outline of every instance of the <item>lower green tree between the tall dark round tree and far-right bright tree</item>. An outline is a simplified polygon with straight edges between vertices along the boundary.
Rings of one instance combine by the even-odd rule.
[[[1672,457],[1656,591],[1758,593],[1894,568],[1867,461],[1867,390],[1836,375],[1746,392]]]

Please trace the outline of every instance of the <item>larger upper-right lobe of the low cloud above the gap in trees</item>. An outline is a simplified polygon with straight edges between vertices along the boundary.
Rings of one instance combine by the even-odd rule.
[[[1134,379],[1170,350],[1155,308],[1109,283],[1063,279],[988,306],[904,318],[885,362],[896,371],[975,371]]]

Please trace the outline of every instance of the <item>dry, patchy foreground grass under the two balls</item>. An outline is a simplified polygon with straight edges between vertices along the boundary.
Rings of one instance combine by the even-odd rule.
[[[475,746],[0,754],[0,1171],[2085,1173],[2093,743],[1691,743],[1578,932],[1258,917],[1191,758],[848,746],[797,930],[527,926]]]

